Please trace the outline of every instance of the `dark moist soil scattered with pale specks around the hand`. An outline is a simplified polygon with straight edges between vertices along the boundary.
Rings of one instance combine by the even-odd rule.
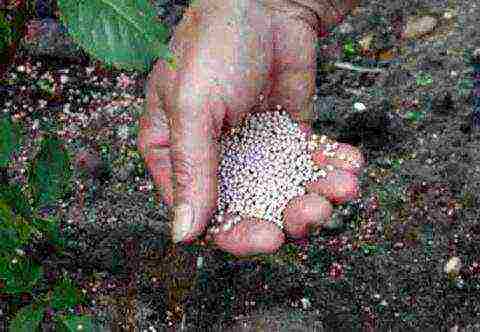
[[[185,5],[157,9],[173,28]],[[432,31],[396,35],[409,17],[424,15],[437,18]],[[319,41],[314,129],[363,151],[362,195],[336,207],[336,229],[250,258],[202,239],[170,242],[169,211],[135,146],[145,74],[125,73],[125,80],[87,56],[70,61],[20,49],[0,108],[20,119],[26,142],[5,176],[26,183],[21,169],[52,128],[74,161],[74,189],[44,211],[59,219],[68,246],[60,256],[34,244],[34,255],[52,279],[66,271],[86,290],[90,302],[80,311],[100,330],[480,330],[471,56],[480,47],[478,17],[470,0],[361,1]],[[348,49],[368,33],[375,36],[368,54]],[[36,88],[45,73],[60,87],[53,93]],[[452,257],[462,265],[447,274]],[[1,305],[10,318],[11,303]],[[54,330],[47,316],[42,330]]]

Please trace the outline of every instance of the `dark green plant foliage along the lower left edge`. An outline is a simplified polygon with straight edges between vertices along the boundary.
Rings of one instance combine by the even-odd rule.
[[[8,118],[0,120],[0,160],[6,167],[12,152],[20,146],[20,127]],[[50,241],[62,255],[66,239],[55,218],[43,217],[39,207],[55,203],[68,190],[71,181],[70,157],[62,141],[47,134],[28,171],[28,188],[0,184],[0,294],[18,298],[38,292],[44,272],[42,262],[33,257],[34,240]],[[34,204],[32,204],[32,202]],[[54,316],[56,331],[100,331],[90,316],[64,314],[86,297],[64,275],[52,291],[35,296],[9,322],[8,331],[40,331],[47,307],[60,311]]]

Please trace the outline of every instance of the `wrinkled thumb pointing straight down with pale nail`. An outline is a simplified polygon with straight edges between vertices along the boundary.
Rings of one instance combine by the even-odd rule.
[[[191,96],[191,95],[190,95]],[[179,98],[182,99],[182,98]],[[191,242],[206,228],[217,205],[219,151],[211,107],[184,97],[170,116],[174,209],[172,238]]]

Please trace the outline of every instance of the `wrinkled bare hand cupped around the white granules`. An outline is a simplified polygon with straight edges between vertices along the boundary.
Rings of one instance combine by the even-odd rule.
[[[329,0],[197,0],[187,9],[169,45],[177,67],[164,61],[155,64],[138,137],[154,183],[173,208],[174,242],[193,241],[213,216],[222,131],[237,125],[248,112],[277,105],[310,131],[315,44],[354,1],[335,3],[333,7]],[[356,173],[334,166],[339,175],[311,184],[309,197],[333,203],[355,197]],[[320,205],[327,206],[324,203]],[[325,207],[314,212],[311,206],[316,206],[315,199],[293,205],[288,214],[291,236],[303,236],[299,234],[308,228],[299,226],[298,220],[311,225],[317,222],[313,219],[327,217]],[[303,208],[308,211],[301,212]],[[217,235],[217,244],[238,255],[271,252],[284,241],[268,223],[242,221],[236,227],[238,231],[229,233],[235,236]],[[266,234],[277,242],[266,241]],[[264,245],[255,247],[255,239]]]

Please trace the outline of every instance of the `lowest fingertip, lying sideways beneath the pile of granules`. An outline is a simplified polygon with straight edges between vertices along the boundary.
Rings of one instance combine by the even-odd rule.
[[[274,253],[285,242],[283,231],[274,223],[229,214],[210,229],[210,236],[220,249],[235,256]]]

